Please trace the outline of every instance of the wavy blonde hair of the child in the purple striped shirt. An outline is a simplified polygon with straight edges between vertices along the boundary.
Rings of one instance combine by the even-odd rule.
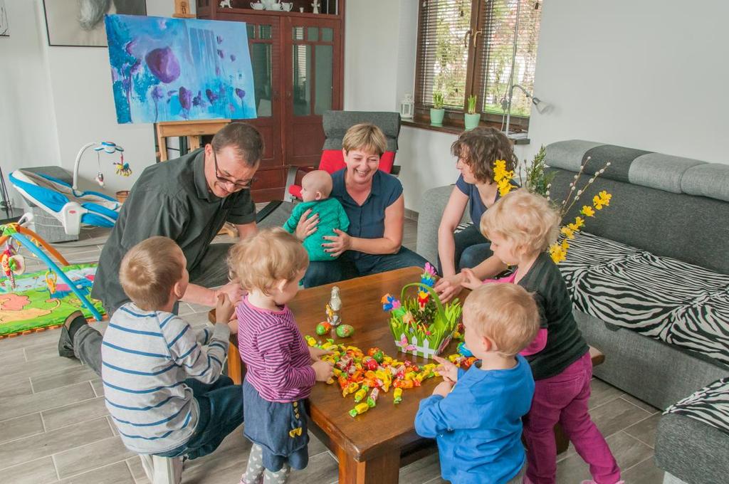
[[[243,289],[270,294],[278,281],[293,281],[309,265],[306,249],[281,227],[262,229],[230,249],[228,268]]]

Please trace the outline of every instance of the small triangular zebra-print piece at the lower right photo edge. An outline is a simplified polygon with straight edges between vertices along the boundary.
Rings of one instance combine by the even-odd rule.
[[[686,415],[729,434],[729,378],[716,380],[674,403],[663,415],[668,413]]]

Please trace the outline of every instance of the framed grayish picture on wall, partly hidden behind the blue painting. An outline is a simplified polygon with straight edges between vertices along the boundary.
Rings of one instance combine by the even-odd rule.
[[[106,47],[104,15],[147,15],[146,0],[43,0],[48,45]]]

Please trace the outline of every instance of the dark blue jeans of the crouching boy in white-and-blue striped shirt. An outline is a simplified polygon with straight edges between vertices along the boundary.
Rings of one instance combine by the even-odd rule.
[[[225,375],[215,383],[202,383],[189,378],[184,382],[198,401],[200,414],[195,432],[178,448],[157,454],[162,457],[188,458],[207,456],[220,442],[243,423],[243,392],[240,385]]]

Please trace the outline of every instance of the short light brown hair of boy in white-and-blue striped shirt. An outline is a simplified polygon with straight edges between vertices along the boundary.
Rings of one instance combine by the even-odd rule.
[[[171,238],[150,237],[133,246],[122,259],[119,281],[132,303],[145,311],[167,304],[182,279],[182,249]]]

